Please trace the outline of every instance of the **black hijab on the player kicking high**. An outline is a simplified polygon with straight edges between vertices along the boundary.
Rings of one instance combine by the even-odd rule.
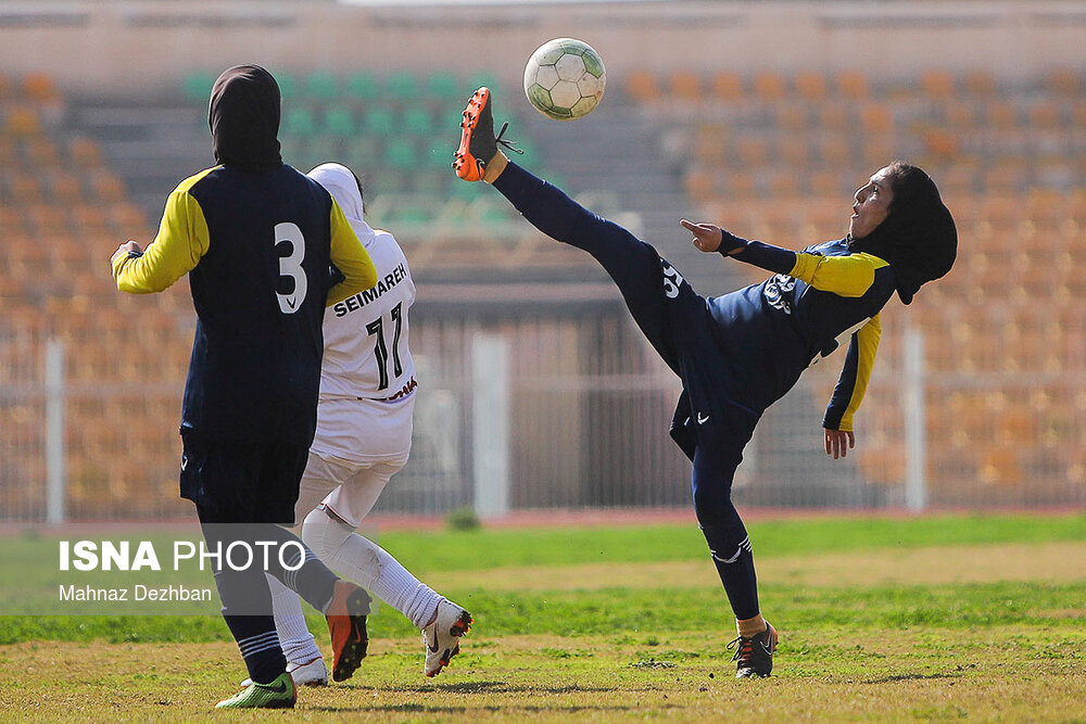
[[[894,191],[889,215],[874,231],[849,239],[848,244],[889,264],[897,295],[909,304],[922,284],[950,271],[958,255],[958,229],[927,174],[899,161],[889,168]]]

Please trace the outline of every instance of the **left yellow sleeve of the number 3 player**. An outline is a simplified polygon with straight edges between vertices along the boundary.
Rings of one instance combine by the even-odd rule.
[[[122,255],[113,263],[117,289],[129,294],[161,292],[191,271],[207,253],[207,220],[189,189],[210,170],[186,179],[169,194],[159,233],[142,256]]]

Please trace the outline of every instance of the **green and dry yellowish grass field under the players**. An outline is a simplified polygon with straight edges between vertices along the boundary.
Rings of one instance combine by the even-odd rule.
[[[477,619],[438,678],[382,607],[350,682],[213,713],[244,676],[220,619],[0,617],[0,720],[1086,722],[1086,516],[749,529],[769,679],[733,678],[693,524],[396,532],[382,545]]]

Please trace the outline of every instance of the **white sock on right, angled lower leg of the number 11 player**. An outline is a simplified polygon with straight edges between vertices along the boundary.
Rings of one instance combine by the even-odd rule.
[[[379,545],[314,510],[302,523],[302,541],[329,568],[353,580],[403,613],[418,628],[433,619],[441,600]]]

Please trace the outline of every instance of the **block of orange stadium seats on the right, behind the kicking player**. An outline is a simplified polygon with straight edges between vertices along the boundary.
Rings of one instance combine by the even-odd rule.
[[[674,124],[686,129],[683,189],[703,217],[737,233],[794,247],[835,238],[844,227],[841,194],[850,191],[843,180],[861,180],[895,157],[939,182],[959,221],[959,265],[921,293],[908,315],[892,305],[884,316],[891,326],[908,321],[924,330],[934,371],[999,376],[1008,392],[929,393],[927,478],[938,501],[961,503],[955,488],[970,475],[1007,504],[1023,500],[1027,486],[1031,499],[1058,500],[1069,479],[1082,479],[1082,395],[1071,394],[1075,388],[1061,372],[1086,367],[1083,281],[1074,272],[1084,254],[1086,78],[1056,69],[1009,84],[975,69],[897,81],[858,72],[832,79],[686,74],[682,82],[712,91],[702,93],[696,117],[660,92],[681,94],[674,75],[637,72],[626,91],[655,116],[683,122]],[[747,272],[747,281],[760,277]],[[835,374],[830,365],[815,377],[829,388]],[[1007,402],[1031,383],[1035,404]],[[900,418],[898,395],[893,386],[872,386],[862,412],[869,427],[877,410]],[[900,430],[868,437],[860,468],[872,483],[900,482]]]

